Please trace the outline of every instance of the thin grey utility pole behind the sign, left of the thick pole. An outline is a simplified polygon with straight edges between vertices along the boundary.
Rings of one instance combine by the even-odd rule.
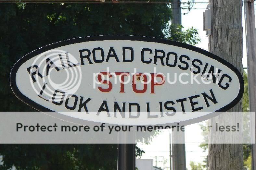
[[[181,0],[171,1],[172,24],[181,25]],[[181,31],[181,30],[180,30]],[[173,169],[186,170],[185,132],[172,132]],[[170,156],[170,166],[172,167]]]

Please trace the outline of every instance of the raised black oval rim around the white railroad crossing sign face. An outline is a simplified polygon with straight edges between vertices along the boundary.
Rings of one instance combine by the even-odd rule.
[[[74,43],[83,43],[83,42],[90,42],[90,41],[104,41],[104,40],[131,40],[131,41],[142,41],[142,42],[153,42],[153,43],[162,43],[162,44],[167,44],[167,45],[173,45],[173,46],[177,46],[177,47],[182,47],[182,48],[186,48],[188,50],[192,50],[195,52],[198,52],[200,54],[206,55],[214,60],[219,61],[220,63],[224,64],[226,67],[230,68],[234,73],[236,73],[238,79],[239,79],[239,84],[240,84],[240,89],[238,92],[237,97],[229,104],[225,105],[224,107],[218,109],[215,112],[226,112],[229,109],[231,109],[232,107],[234,107],[241,99],[244,93],[244,80],[243,77],[240,73],[240,71],[233,66],[232,64],[230,64],[228,61],[224,60],[223,58],[214,55],[206,50],[203,50],[201,48],[189,45],[189,44],[185,44],[185,43],[180,43],[180,42],[176,42],[176,41],[171,41],[171,40],[167,40],[167,39],[161,39],[161,38],[153,38],[153,37],[144,37],[144,36],[133,36],[133,35],[99,35],[99,36],[88,36],[88,37],[79,37],[79,38],[73,38],[73,39],[69,39],[69,40],[64,40],[64,41],[60,41],[57,43],[52,43],[49,45],[46,45],[44,47],[41,47],[39,49],[36,49],[34,51],[32,51],[31,53],[23,56],[22,58],[20,58],[15,65],[13,66],[11,73],[10,73],[10,85],[11,85],[11,89],[14,92],[14,94],[24,103],[28,104],[29,106],[33,107],[34,109],[46,113],[46,112],[55,112],[52,111],[48,108],[43,107],[42,105],[35,103],[34,101],[32,101],[31,99],[29,99],[28,97],[26,97],[24,94],[22,94],[16,84],[16,73],[19,69],[19,67],[25,63],[27,60],[31,59],[32,57],[39,55],[45,51],[54,49],[54,48],[58,48],[61,46],[65,46],[65,45],[69,45],[69,44],[74,44]],[[47,113],[46,113],[47,114]],[[170,124],[155,124],[155,125],[162,125],[162,126],[170,126],[172,124],[177,124],[179,123],[180,125],[190,125],[193,123],[198,123],[207,119],[210,119],[214,116],[219,115],[220,113],[211,113],[208,115],[204,115],[201,117],[197,117],[194,119],[189,119],[186,121],[181,121],[181,122],[175,122],[175,123],[170,123]],[[47,115],[51,115],[53,117],[57,117],[59,119],[63,119],[66,121],[67,117],[66,115],[62,115],[62,114],[47,114]],[[95,125],[96,123],[99,122],[92,122],[92,121],[87,121],[87,120],[82,120],[82,119],[78,119],[78,118],[73,118],[73,117],[69,117],[69,121],[73,122],[73,123],[77,123],[77,124],[86,124],[86,125]],[[101,123],[99,123],[101,124]],[[115,124],[106,124],[106,125],[115,125]],[[135,125],[134,125],[135,126]],[[145,125],[145,126],[152,126],[152,125]]]

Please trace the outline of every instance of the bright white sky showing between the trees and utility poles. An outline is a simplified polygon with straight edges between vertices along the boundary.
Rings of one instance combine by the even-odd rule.
[[[188,0],[182,0],[181,2],[188,2]],[[195,2],[208,2],[208,0],[195,0]],[[198,36],[201,42],[195,46],[208,50],[208,37],[206,37],[205,31],[203,31],[203,11],[206,10],[208,3],[197,3],[194,4],[191,11],[182,15],[182,25],[184,30],[191,28],[198,29]],[[254,3],[256,4],[256,3]],[[184,5],[183,5],[184,6]],[[256,6],[256,5],[255,5]],[[182,13],[187,12],[187,10],[182,10]],[[256,13],[255,13],[256,14]],[[255,17],[256,18],[256,17]],[[245,20],[244,20],[244,7],[243,7],[243,67],[247,67],[247,57],[246,57],[246,36],[245,36]],[[247,70],[246,70],[247,71]],[[144,150],[146,153],[143,154],[141,159],[153,159],[153,165],[155,166],[155,156],[157,156],[157,166],[158,167],[170,167],[170,135],[169,130],[163,130],[156,138],[152,140],[149,145],[138,143],[137,146]],[[198,147],[200,141],[203,140],[201,136],[201,129],[198,124],[188,125],[185,127],[185,141],[186,141],[186,168],[190,170],[189,162],[194,161],[196,163],[202,163],[204,158],[208,155],[208,152],[203,152],[201,148]],[[167,162],[164,164],[164,160]],[[169,168],[170,169],[170,168]]]

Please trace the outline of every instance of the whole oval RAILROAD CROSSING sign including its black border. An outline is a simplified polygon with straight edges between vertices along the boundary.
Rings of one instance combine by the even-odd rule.
[[[186,124],[242,98],[240,72],[184,43],[93,36],[53,43],[22,57],[10,75],[23,102],[42,112],[119,125]]]

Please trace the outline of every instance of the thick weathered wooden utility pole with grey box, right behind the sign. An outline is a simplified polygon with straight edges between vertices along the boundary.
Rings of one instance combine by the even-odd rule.
[[[234,65],[242,73],[242,1],[241,0],[209,0],[211,9],[211,35],[208,51],[220,56]],[[225,96],[223,96],[225,97]],[[242,111],[240,101],[229,111]],[[215,123],[226,124],[242,120],[242,114],[223,113],[209,119],[209,126]],[[231,140],[241,136],[233,135]],[[212,144],[211,141],[222,143],[224,138],[216,136],[214,130],[209,132],[209,169],[243,169],[242,144]]]

